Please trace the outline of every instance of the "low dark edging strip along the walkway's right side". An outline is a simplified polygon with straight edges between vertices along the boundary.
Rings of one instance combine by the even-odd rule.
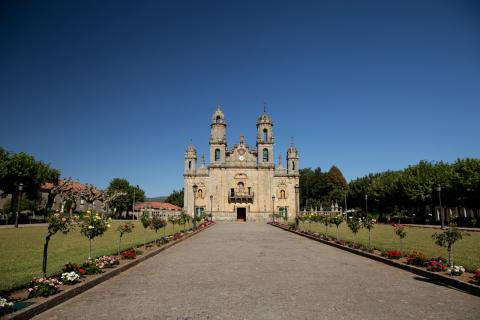
[[[273,227],[277,227],[279,229],[297,234],[299,236],[309,238],[311,240],[315,240],[317,242],[321,242],[323,244],[335,247],[337,249],[341,249],[341,250],[348,251],[350,253],[353,253],[353,254],[356,254],[356,255],[359,255],[359,256],[362,256],[362,257],[365,257],[365,258],[376,260],[378,262],[382,262],[382,263],[388,264],[390,266],[409,271],[409,272],[414,273],[416,275],[419,275],[419,276],[422,276],[422,277],[425,277],[425,278],[429,278],[433,281],[440,282],[440,283],[442,283],[444,285],[447,285],[449,287],[459,289],[461,291],[464,291],[464,292],[467,292],[467,293],[470,293],[470,294],[473,294],[473,295],[476,295],[476,296],[480,296],[480,287],[476,286],[474,284],[463,282],[463,281],[460,281],[460,280],[457,280],[455,278],[451,278],[451,277],[448,277],[448,276],[445,276],[445,275],[442,275],[442,274],[439,274],[439,273],[427,271],[427,270],[424,270],[424,269],[421,269],[421,268],[418,268],[416,266],[412,266],[412,265],[409,265],[409,264],[400,263],[400,262],[397,262],[395,260],[387,259],[387,258],[378,256],[378,255],[375,255],[375,254],[372,254],[372,253],[368,253],[368,252],[365,252],[365,251],[362,251],[362,250],[358,250],[358,249],[350,248],[350,247],[347,247],[347,246],[343,246],[343,245],[335,243],[335,242],[330,242],[330,241],[327,241],[327,240],[319,239],[319,238],[314,237],[312,235],[305,234],[303,232],[299,232],[299,231],[296,231],[296,230],[290,230],[286,227],[283,227],[283,226],[280,226],[280,225],[277,225],[277,224],[272,224],[270,222],[268,222],[268,224],[273,226]]]

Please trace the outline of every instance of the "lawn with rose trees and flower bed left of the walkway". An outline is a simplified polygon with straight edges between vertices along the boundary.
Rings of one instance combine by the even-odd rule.
[[[212,223],[186,214],[167,220],[144,214],[139,221],[115,221],[90,211],[72,216],[57,212],[48,217],[48,226],[0,229],[0,315]]]

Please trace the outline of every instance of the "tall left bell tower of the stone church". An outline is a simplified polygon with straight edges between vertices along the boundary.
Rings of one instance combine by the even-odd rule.
[[[217,105],[210,124],[210,164],[225,163],[226,149],[227,124],[220,105]]]

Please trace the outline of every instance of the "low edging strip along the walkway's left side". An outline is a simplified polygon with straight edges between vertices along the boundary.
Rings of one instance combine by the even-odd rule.
[[[86,282],[82,283],[81,285],[79,285],[78,287],[74,287],[74,288],[71,288],[71,289],[67,289],[65,291],[61,291],[59,292],[58,294],[55,294],[51,297],[48,297],[45,301],[42,301],[42,302],[39,302],[39,303],[35,303],[29,307],[26,307],[25,309],[21,309],[17,312],[13,312],[13,313],[9,313],[3,317],[0,317],[1,320],[27,320],[27,319],[31,319],[45,311],[47,311],[48,309],[51,309],[67,300],[70,300],[76,296],[78,296],[79,294],[107,281],[108,279],[110,278],[113,278],[115,277],[116,275],[119,275],[120,273],[136,266],[137,264],[147,260],[147,259],[150,259],[154,256],[156,256],[157,254],[159,254],[160,252],[164,251],[164,250],[167,250],[168,248],[171,248],[173,247],[174,245],[184,241],[184,240],[187,240],[188,238],[214,226],[215,224],[210,224],[202,229],[198,229],[192,233],[189,233],[189,234],[186,234],[185,236],[183,236],[182,238],[178,239],[178,240],[175,240],[175,241],[172,241],[172,242],[169,242],[163,246],[161,246],[160,248],[156,249],[155,251],[151,251],[151,252],[148,252],[140,257],[137,257],[135,260],[132,260],[130,261],[129,263],[126,263],[122,266],[119,266],[117,268],[114,268],[114,269],[111,269],[105,273],[102,273],[100,275],[98,275],[97,277],[91,279],[91,280],[87,280]]]

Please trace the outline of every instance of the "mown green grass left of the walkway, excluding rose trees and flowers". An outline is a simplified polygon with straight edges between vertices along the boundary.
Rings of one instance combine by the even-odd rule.
[[[117,253],[118,224],[119,221],[113,221],[107,232],[92,241],[92,256]],[[134,224],[133,232],[123,236],[122,249],[143,244],[143,226],[138,221]],[[176,225],[175,231],[178,230],[179,226]],[[172,225],[168,225],[166,231],[167,234],[172,234]],[[42,275],[43,243],[46,234],[46,226],[0,229],[0,291],[25,285],[33,277]],[[161,236],[163,229],[158,231],[157,238]],[[154,239],[155,232],[147,229],[147,241]],[[78,263],[88,258],[88,239],[80,235],[78,228],[66,235],[56,234],[50,240],[48,253],[47,271],[49,274],[58,273],[65,263]]]

